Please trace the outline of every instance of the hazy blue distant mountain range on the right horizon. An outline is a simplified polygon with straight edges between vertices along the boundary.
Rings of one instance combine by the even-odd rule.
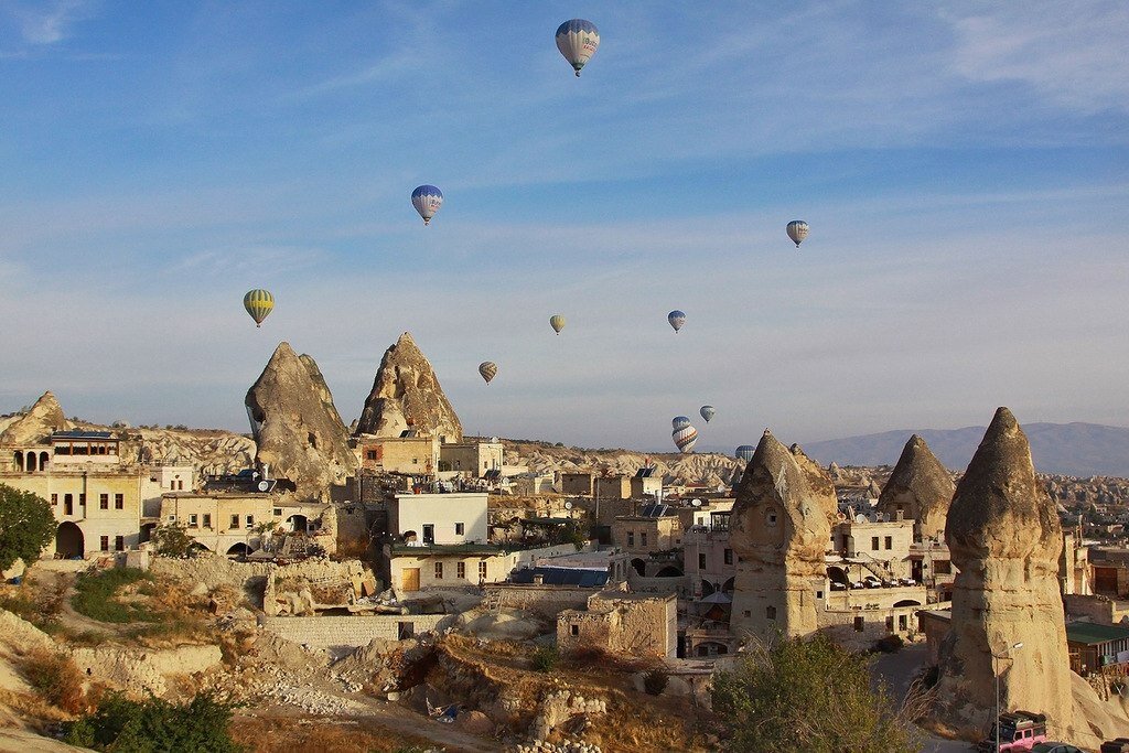
[[[904,429],[860,437],[813,441],[808,456],[826,465],[893,465],[910,436],[918,434],[937,458],[963,471],[983,438],[984,427]],[[1064,475],[1129,476],[1129,429],[1097,423],[1025,423],[1035,471]]]

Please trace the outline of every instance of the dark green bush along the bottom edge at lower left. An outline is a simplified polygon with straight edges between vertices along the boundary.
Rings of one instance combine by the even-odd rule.
[[[233,708],[210,693],[187,703],[112,693],[71,724],[63,741],[114,753],[242,753],[228,729]]]

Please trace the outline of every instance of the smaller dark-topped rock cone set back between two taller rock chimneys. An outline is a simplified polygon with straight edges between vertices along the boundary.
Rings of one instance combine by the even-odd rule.
[[[948,471],[925,439],[913,435],[878,497],[878,511],[891,520],[913,520],[914,541],[940,540],[954,490]]]

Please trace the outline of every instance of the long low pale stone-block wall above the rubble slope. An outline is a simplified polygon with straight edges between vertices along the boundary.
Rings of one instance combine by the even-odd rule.
[[[312,648],[345,649],[368,646],[374,638],[397,640],[401,625],[419,636],[453,624],[452,614],[375,614],[371,616],[265,618],[263,629]]]

